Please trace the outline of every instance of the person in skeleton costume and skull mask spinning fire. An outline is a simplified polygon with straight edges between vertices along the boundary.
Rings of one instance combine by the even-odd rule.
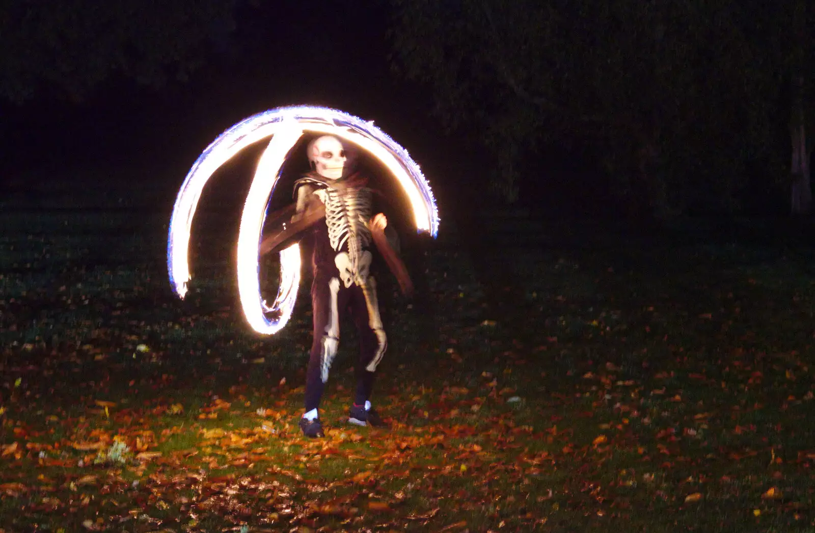
[[[351,173],[350,161],[339,139],[331,135],[315,138],[307,153],[311,172],[294,184],[296,204],[290,230],[311,225],[314,238],[311,286],[314,339],[306,369],[305,413],[299,426],[304,435],[319,437],[324,435],[319,402],[337,355],[340,321],[346,311],[350,311],[359,332],[357,386],[349,422],[385,426],[370,402],[377,365],[388,344],[379,313],[377,282],[370,273],[372,245],[381,251],[405,294],[412,291],[412,284],[385,237],[385,229],[392,231],[385,215],[372,216],[374,191],[366,179]]]

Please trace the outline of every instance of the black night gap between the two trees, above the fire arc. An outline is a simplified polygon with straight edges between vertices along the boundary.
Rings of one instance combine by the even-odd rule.
[[[362,2],[367,3],[367,2]],[[4,177],[15,186],[64,181],[106,168],[99,186],[128,168],[139,181],[176,188],[200,152],[245,117],[294,104],[336,107],[368,120],[418,151],[425,164],[443,133],[415,87],[390,74],[387,11],[372,2],[239,5],[236,29],[210,45],[208,63],[186,82],[158,89],[114,74],[75,102],[40,94],[3,103]],[[424,155],[422,157],[421,155]],[[243,159],[256,159],[257,154]],[[440,178],[433,178],[434,184]]]

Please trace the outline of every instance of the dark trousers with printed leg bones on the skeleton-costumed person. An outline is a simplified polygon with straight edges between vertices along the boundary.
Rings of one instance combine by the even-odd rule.
[[[333,316],[332,283],[335,283],[337,291],[336,317]],[[368,286],[375,287],[376,284],[369,282]],[[369,294],[372,296],[373,305],[378,309],[375,288],[373,291],[369,289]],[[379,341],[368,320],[368,304],[365,301],[362,287],[354,284],[346,287],[337,277],[317,275],[311,284],[311,310],[314,320],[314,336],[308,369],[306,369],[306,412],[319,408],[319,400],[325,387],[324,378],[328,378],[327,367],[330,366],[333,356],[336,355],[336,352],[330,353],[332,348],[328,348],[328,363],[326,363],[326,349],[328,344],[333,343],[333,349],[336,350],[340,335],[338,325],[349,312],[359,337],[359,361],[354,367],[357,382],[354,403],[364,404],[371,396],[373,378],[376,374],[365,367],[377,355]],[[335,320],[334,325],[337,327],[332,328],[332,322]]]

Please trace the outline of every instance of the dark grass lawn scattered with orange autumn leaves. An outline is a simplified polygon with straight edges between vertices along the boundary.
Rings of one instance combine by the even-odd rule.
[[[416,302],[383,283],[392,427],[345,422],[346,325],[308,440],[308,282],[253,334],[211,221],[180,301],[166,215],[0,214],[0,531],[813,531],[802,251],[443,235]]]

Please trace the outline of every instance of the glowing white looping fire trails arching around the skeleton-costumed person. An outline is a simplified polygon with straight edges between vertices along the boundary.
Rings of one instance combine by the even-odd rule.
[[[170,236],[167,242],[167,269],[170,283],[183,298],[187,294],[189,241],[192,217],[201,191],[209,177],[245,147],[273,136],[258,161],[252,186],[246,199],[238,237],[238,289],[249,325],[260,333],[275,333],[291,317],[297,298],[300,276],[300,251],[297,244],[280,252],[280,290],[275,304],[268,308],[260,295],[258,282],[258,241],[267,201],[275,189],[289,150],[303,131],[336,135],[353,142],[387,167],[399,181],[410,200],[416,229],[438,233],[438,210],[425,177],[407,151],[372,122],[327,107],[280,107],[250,116],[227,129],[210,144],[192,165],[178,191]],[[268,320],[265,312],[274,312]]]

